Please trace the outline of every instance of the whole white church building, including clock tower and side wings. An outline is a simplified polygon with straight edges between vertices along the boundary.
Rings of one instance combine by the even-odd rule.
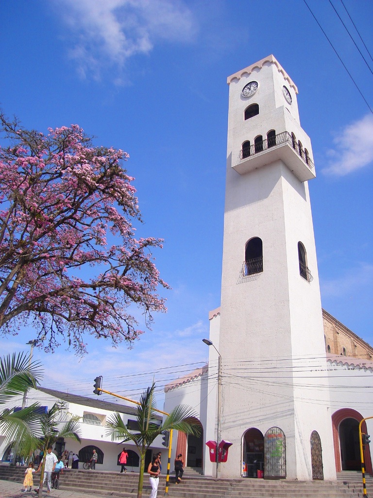
[[[297,87],[273,55],[228,85],[221,303],[208,365],[165,387],[165,411],[196,406],[202,435],[175,434],[171,461],[182,453],[221,478],[335,480],[361,469],[373,349],[321,308]],[[206,446],[217,439],[232,443],[218,469]],[[365,461],[372,473],[369,446]]]

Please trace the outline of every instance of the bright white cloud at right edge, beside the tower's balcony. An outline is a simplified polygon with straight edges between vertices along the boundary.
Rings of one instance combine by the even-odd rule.
[[[346,126],[333,140],[335,148],[325,174],[344,176],[373,161],[373,116],[367,115]]]

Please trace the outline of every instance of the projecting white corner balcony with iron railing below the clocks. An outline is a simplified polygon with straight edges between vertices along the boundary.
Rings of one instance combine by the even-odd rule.
[[[316,177],[312,159],[287,131],[242,149],[232,167],[243,175],[279,159],[301,182]]]

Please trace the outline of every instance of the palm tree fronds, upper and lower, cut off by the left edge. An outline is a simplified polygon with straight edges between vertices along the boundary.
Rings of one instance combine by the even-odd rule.
[[[8,406],[0,409],[0,429],[6,441],[15,441],[17,453],[29,455],[35,445],[35,433],[39,427],[40,414],[38,403],[19,411],[9,408],[9,402],[15,396],[24,394],[30,387],[36,387],[42,377],[40,363],[29,362],[26,353],[13,353],[0,358],[0,405]]]

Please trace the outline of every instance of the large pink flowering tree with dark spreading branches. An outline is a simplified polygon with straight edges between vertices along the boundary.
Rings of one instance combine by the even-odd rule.
[[[160,239],[134,237],[141,221],[122,150],[94,147],[77,125],[26,130],[0,114],[0,332],[30,324],[47,351],[87,334],[131,344],[166,311],[153,262]]]

